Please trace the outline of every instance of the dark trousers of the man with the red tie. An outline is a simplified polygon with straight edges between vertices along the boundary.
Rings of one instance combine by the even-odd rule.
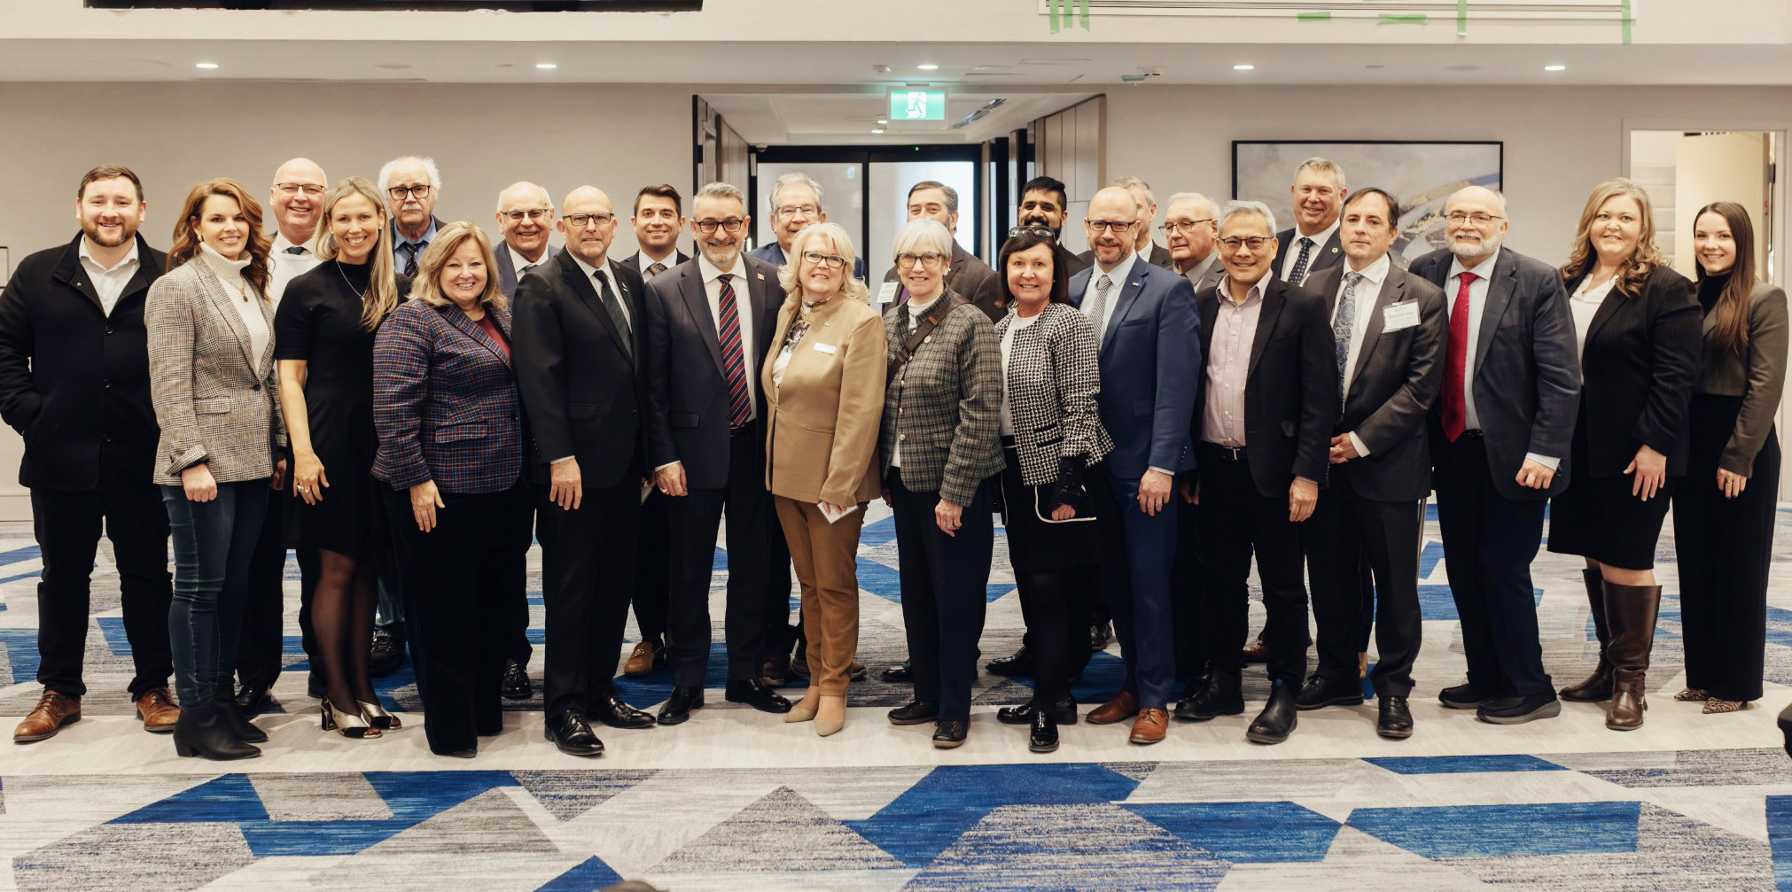
[[[1441,446],[1432,464],[1469,686],[1487,697],[1550,693],[1530,586],[1530,561],[1543,541],[1543,494],[1527,502],[1502,496],[1478,432]]]

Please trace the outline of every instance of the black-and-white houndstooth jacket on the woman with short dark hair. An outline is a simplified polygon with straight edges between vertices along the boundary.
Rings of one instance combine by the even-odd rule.
[[[996,322],[998,344],[1018,321],[1009,312]],[[1048,303],[1030,326],[1014,331],[1004,378],[1023,484],[1057,480],[1059,459],[1081,455],[1093,466],[1115,450],[1095,408],[1102,390],[1095,324],[1075,306]]]

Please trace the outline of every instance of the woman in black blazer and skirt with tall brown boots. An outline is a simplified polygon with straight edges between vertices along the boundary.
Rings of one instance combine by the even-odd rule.
[[[1649,195],[1615,177],[1593,188],[1563,283],[1581,344],[1581,417],[1568,489],[1550,505],[1550,552],[1586,557],[1598,668],[1564,700],[1611,700],[1606,727],[1643,725],[1656,636],[1656,539],[1686,473],[1686,401],[1699,378],[1699,301],[1656,247]]]

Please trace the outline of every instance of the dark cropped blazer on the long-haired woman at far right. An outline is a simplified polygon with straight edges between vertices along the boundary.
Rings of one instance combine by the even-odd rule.
[[[1753,476],[1754,457],[1774,428],[1779,392],[1787,383],[1787,292],[1765,281],[1749,292],[1749,346],[1744,355],[1717,344],[1717,313],[1704,315],[1704,371],[1701,394],[1740,396],[1736,430],[1724,446],[1717,466]]]

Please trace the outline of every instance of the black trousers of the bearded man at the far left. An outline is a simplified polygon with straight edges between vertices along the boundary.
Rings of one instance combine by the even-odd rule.
[[[88,650],[90,582],[100,527],[113,543],[124,595],[124,634],[131,641],[131,699],[168,686],[168,512],[154,484],[84,491],[30,491],[32,532],[43,555],[38,580],[38,682],[82,697]]]

